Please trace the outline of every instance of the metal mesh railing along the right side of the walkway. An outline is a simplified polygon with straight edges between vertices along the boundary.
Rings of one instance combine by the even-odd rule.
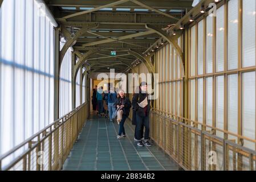
[[[232,140],[218,137],[208,131],[162,115],[154,109],[151,111],[151,138],[181,168],[185,170],[220,170],[221,168],[223,170],[256,170],[256,151]],[[206,141],[208,141],[208,147],[206,147]],[[207,159],[209,150],[218,153],[219,158],[216,166],[209,167],[206,164],[206,161],[209,160]],[[228,162],[230,158],[232,158],[232,165]]]

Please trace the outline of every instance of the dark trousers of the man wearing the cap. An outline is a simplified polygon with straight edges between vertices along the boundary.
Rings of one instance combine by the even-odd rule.
[[[143,125],[145,126],[144,140],[149,139],[149,115],[146,117],[140,117],[136,114],[136,139],[141,140],[143,135],[141,135],[141,130],[143,132]]]

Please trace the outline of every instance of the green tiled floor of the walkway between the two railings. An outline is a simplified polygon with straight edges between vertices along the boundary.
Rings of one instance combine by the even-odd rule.
[[[107,118],[92,116],[74,144],[63,170],[178,170],[178,165],[159,147],[139,147],[133,140],[134,126],[127,119],[128,135],[116,139],[119,125]]]

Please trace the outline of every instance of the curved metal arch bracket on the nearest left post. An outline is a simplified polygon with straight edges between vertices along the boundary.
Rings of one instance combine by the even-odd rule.
[[[99,23],[92,23],[88,24],[86,27],[81,28],[78,32],[76,32],[74,39],[71,38],[71,34],[67,31],[64,30],[63,33],[64,35],[68,36],[68,41],[66,44],[64,44],[62,50],[60,51],[60,56],[59,56],[59,65],[62,64],[62,60],[64,58],[65,53],[67,52],[67,49],[72,46],[72,44],[75,43],[75,41],[78,40],[78,38],[83,35],[85,32],[91,30],[92,28],[97,28],[99,26]]]

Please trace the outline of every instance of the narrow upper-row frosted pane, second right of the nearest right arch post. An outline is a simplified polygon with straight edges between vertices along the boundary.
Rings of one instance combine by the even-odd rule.
[[[198,53],[197,53],[197,73],[202,75],[204,73],[204,21],[198,23]]]

